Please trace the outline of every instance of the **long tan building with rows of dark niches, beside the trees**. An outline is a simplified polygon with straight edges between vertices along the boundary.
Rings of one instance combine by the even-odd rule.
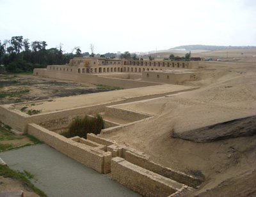
[[[198,62],[191,61],[136,61],[125,59],[106,59],[98,57],[75,57],[68,65],[47,66],[48,71],[69,73],[142,73],[163,69],[198,69]]]

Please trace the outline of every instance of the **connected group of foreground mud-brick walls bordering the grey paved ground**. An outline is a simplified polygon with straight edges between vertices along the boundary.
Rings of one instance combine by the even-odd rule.
[[[34,123],[28,124],[28,133],[99,173],[111,172],[113,180],[143,196],[170,196],[202,183],[196,177],[149,161],[143,152],[92,133],[87,134],[87,140],[65,138]]]

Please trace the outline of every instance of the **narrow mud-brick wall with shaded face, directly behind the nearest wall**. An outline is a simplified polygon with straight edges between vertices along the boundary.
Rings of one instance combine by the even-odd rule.
[[[196,186],[199,186],[203,182],[203,180],[200,180],[196,177],[186,175],[185,173],[182,173],[180,171],[174,171],[170,168],[166,168],[152,161],[149,161],[148,158],[149,157],[147,156],[141,155],[140,152],[131,152],[130,150],[127,150],[125,152],[125,159],[127,161],[138,166],[141,166],[142,168],[145,168],[147,170],[154,171],[154,173],[162,175],[163,177],[166,177],[168,179],[172,179],[182,184],[185,184],[186,186],[195,188]]]

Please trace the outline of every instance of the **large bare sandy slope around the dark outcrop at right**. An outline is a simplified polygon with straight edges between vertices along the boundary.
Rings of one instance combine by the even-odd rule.
[[[224,180],[255,169],[256,136],[195,143],[172,138],[172,131],[182,132],[255,115],[255,74],[255,65],[201,62],[198,79],[185,84],[200,89],[124,105],[124,108],[157,116],[102,136],[127,143],[146,152],[152,161],[174,170],[195,175],[200,175],[200,171],[206,181],[193,194],[207,191]]]

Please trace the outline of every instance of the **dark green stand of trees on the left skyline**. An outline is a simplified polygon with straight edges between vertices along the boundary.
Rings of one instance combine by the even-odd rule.
[[[76,57],[90,55],[88,52],[81,53],[79,47],[76,47],[76,54],[73,51],[69,54],[63,54],[62,45],[59,47],[46,49],[46,41],[31,41],[24,39],[23,36],[13,36],[11,40],[0,41],[0,64],[4,64],[6,71],[22,72],[33,71],[34,68],[45,68],[47,65],[63,65]],[[91,45],[94,56],[94,46]]]

